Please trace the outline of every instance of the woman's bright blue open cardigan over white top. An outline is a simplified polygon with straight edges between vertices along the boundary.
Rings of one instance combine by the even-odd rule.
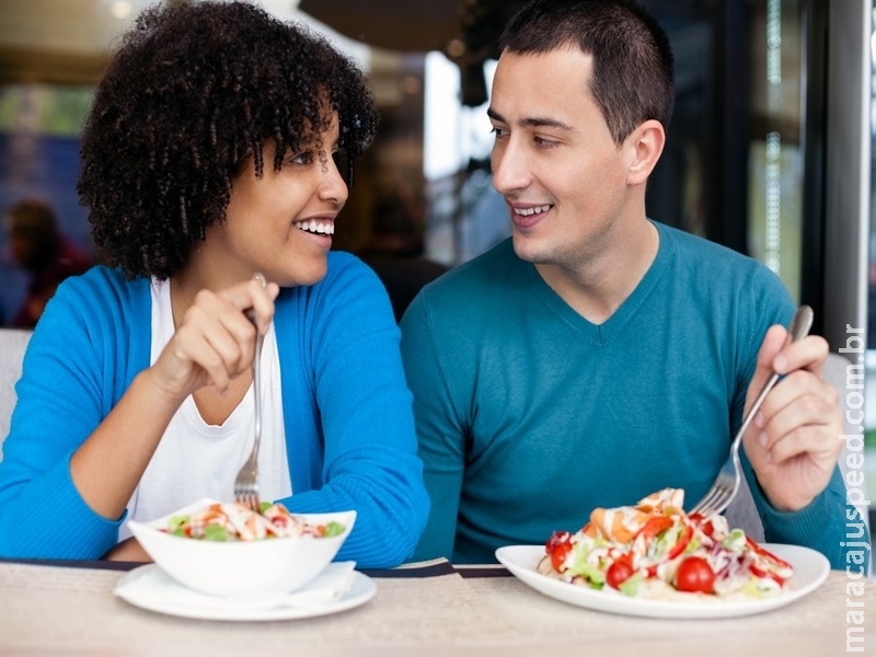
[[[95,514],[69,460],[149,367],[150,318],[149,280],[106,267],[69,279],[49,302],[2,446],[0,556],[99,558],[117,542],[126,514]],[[338,558],[402,563],[429,502],[385,290],[358,258],[331,252],[325,279],[280,291],[275,330],[295,491],[284,504],[298,512],[356,509]]]

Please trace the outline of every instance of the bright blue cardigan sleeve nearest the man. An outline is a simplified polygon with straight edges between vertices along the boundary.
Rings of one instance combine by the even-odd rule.
[[[284,504],[299,512],[356,509],[338,558],[362,567],[397,566],[414,550],[429,499],[389,297],[371,269],[341,253],[308,295],[299,345],[301,362],[309,364],[303,374],[315,395],[324,459],[303,486],[292,466],[296,493]]]

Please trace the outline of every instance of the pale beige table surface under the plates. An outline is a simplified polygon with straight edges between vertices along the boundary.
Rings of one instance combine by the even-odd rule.
[[[502,566],[433,562],[366,570],[377,595],[356,609],[269,622],[192,620],[113,595],[132,564],[0,560],[0,655],[599,655],[829,656],[846,653],[848,612],[864,618],[876,655],[876,584],[864,595],[833,570],[817,590],[774,611],[721,620],[660,620],[566,604]],[[861,580],[858,580],[861,581]],[[858,619],[860,620],[860,619]],[[300,653],[298,649],[306,649]]]

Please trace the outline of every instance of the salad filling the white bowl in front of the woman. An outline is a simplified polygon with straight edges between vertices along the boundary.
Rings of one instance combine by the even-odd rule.
[[[163,531],[205,541],[253,541],[283,537],[336,537],[344,533],[339,522],[312,525],[293,516],[281,504],[262,503],[255,512],[238,503],[216,503],[196,514],[173,516]]]

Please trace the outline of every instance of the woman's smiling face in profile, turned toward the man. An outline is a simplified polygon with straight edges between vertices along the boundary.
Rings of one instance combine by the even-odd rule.
[[[203,249],[215,269],[234,280],[262,272],[280,286],[322,280],[335,218],[348,195],[332,159],[337,141],[335,115],[327,130],[286,153],[280,171],[274,171],[273,140],[263,148],[261,178],[247,160],[232,181],[226,221],[207,230]]]

